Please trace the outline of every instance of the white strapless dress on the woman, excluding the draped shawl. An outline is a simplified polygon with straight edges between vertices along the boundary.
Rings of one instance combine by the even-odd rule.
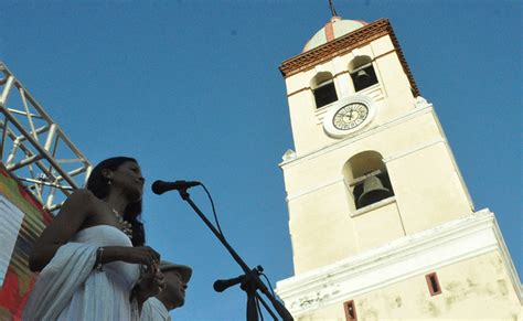
[[[96,247],[132,246],[131,240],[124,232],[110,225],[97,225],[82,229],[71,242]],[[140,277],[139,265],[114,261],[104,265],[103,268],[103,271],[93,269],[85,282],[74,292],[71,302],[60,313],[57,320],[103,320],[99,318],[107,317],[110,320],[132,319],[129,296]],[[113,315],[102,312],[107,311],[108,306],[111,307],[110,314]]]

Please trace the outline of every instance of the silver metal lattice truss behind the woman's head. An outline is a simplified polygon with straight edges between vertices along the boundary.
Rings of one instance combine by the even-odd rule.
[[[44,208],[58,210],[93,165],[3,62],[0,113],[0,161]]]

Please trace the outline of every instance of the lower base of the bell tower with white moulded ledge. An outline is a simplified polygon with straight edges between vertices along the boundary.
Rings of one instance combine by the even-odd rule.
[[[425,275],[442,292],[430,296]],[[521,320],[521,282],[488,210],[277,283],[296,320]],[[519,319],[520,318],[520,319]]]

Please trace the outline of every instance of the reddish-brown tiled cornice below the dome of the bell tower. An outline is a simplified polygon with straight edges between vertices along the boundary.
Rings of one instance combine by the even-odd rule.
[[[393,42],[394,49],[396,50],[399,62],[402,63],[403,69],[407,75],[410,83],[414,96],[419,96],[419,90],[414,81],[414,76],[407,65],[407,61],[403,54],[399,42],[394,34],[394,30],[388,19],[380,19],[373,23],[362,26],[353,32],[350,32],[343,36],[329,41],[316,49],[301,53],[297,56],[288,58],[281,63],[279,71],[284,77],[289,77],[297,73],[308,71],[319,63],[329,61],[334,56],[344,54],[353,51],[354,49],[370,43],[381,36],[388,35]]]

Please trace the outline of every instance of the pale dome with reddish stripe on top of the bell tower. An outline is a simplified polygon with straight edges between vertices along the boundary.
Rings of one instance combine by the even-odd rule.
[[[342,20],[340,17],[332,17],[332,19],[320,29],[305,45],[303,51],[309,51],[320,46],[331,40],[345,35],[360,29],[367,23],[360,20]]]

